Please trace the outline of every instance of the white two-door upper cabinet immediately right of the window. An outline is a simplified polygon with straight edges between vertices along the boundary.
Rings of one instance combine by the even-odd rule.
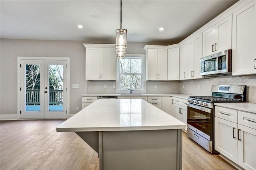
[[[167,49],[147,49],[146,80],[167,80]]]

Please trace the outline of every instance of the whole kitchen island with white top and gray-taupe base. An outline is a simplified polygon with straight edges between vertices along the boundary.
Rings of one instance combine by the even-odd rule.
[[[96,152],[100,170],[182,169],[186,125],[142,99],[97,100],[57,126]]]

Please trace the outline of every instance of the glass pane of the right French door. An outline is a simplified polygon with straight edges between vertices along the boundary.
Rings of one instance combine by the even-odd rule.
[[[48,65],[48,111],[63,111],[63,65]]]

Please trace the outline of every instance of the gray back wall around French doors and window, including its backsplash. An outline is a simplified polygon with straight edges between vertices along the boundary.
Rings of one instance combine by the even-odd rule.
[[[85,47],[80,41],[14,40],[0,39],[0,114],[17,113],[17,57],[70,57],[70,87],[79,84],[78,89],[70,88],[70,114],[82,108],[81,94],[116,93],[112,88],[115,81],[85,80]],[[98,42],[99,43],[99,42]],[[145,54],[145,43],[128,42],[128,54]],[[104,89],[107,84],[107,89]],[[170,83],[147,83],[147,93],[178,93],[178,83],[172,89]],[[152,88],[150,87],[152,86]]]

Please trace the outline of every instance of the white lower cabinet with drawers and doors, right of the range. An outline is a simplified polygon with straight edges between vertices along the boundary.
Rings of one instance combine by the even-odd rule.
[[[218,107],[214,120],[215,150],[246,170],[256,170],[256,114]]]

